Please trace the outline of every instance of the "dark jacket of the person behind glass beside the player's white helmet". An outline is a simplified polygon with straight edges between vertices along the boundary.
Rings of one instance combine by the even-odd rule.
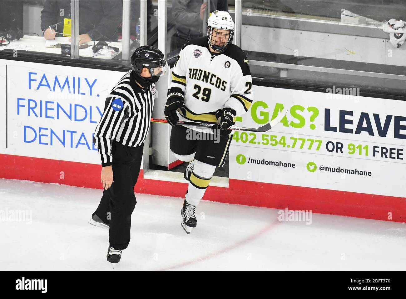
[[[219,10],[228,12],[227,0],[210,0],[210,12]],[[200,20],[202,0],[173,0],[172,15],[177,34],[183,39],[192,39],[206,35],[203,21]],[[208,9],[208,7],[206,7]]]

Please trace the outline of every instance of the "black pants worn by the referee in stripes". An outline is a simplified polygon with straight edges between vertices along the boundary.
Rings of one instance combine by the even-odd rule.
[[[110,224],[110,246],[126,249],[130,243],[131,214],[137,203],[134,186],[140,173],[143,144],[130,147],[113,140],[112,156],[114,183],[103,191],[95,214]]]

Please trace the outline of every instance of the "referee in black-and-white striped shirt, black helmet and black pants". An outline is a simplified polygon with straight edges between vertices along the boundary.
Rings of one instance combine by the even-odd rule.
[[[107,96],[93,142],[102,159],[103,196],[90,223],[109,227],[107,260],[118,263],[130,243],[134,186],[140,172],[143,144],[150,126],[155,84],[167,71],[160,50],[142,46],[130,59],[127,72]]]

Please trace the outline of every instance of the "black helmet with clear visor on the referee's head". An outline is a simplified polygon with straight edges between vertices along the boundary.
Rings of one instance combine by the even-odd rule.
[[[164,54],[155,47],[141,46],[131,55],[131,67],[140,74],[143,68],[147,68],[152,76],[162,76],[168,70]]]

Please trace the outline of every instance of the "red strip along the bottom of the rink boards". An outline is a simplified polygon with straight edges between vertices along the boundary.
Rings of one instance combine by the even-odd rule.
[[[0,154],[0,177],[102,189],[102,166],[79,162]],[[137,193],[183,198],[188,184],[145,179],[140,171]],[[406,222],[403,197],[363,194],[230,179],[229,188],[209,186],[204,199],[315,213]],[[392,219],[389,218],[389,213]]]

